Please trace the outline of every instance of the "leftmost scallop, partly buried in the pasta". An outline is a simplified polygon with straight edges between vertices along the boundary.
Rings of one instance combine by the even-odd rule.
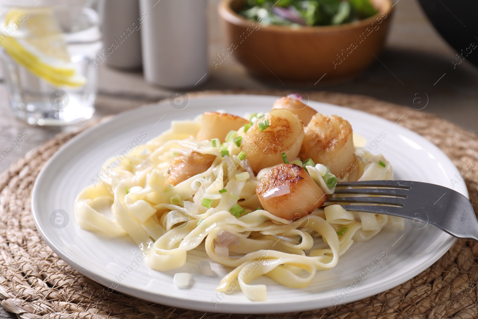
[[[166,174],[164,174],[166,176],[164,187],[168,185],[176,186],[189,177],[206,172],[215,159],[216,155],[197,152],[192,152],[189,156],[176,155]]]

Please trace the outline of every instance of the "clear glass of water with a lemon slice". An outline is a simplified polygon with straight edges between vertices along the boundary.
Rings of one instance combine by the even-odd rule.
[[[102,46],[92,2],[18,6],[23,2],[0,8],[0,59],[13,113],[31,125],[91,118],[98,74],[92,60]]]

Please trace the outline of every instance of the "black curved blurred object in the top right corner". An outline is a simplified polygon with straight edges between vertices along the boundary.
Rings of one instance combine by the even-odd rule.
[[[478,66],[478,1],[419,0],[435,29],[458,53],[460,59]],[[474,44],[474,45],[473,45]]]

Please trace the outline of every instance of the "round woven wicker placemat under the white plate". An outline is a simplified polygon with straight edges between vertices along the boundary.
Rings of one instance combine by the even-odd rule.
[[[225,92],[190,96],[214,93]],[[478,136],[433,114],[357,95],[309,92],[309,97],[398,121],[435,143],[460,170],[466,171],[470,163],[478,163]],[[76,133],[55,136],[0,175],[0,300],[5,309],[19,318],[478,318],[478,244],[467,240],[458,240],[440,260],[406,283],[336,308],[290,314],[228,315],[171,308],[109,292],[53,253],[36,231],[31,214],[31,189],[36,176],[48,158]],[[464,179],[473,207],[478,211],[478,169]]]

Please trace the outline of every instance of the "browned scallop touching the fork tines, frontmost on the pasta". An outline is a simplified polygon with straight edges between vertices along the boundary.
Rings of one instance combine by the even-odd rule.
[[[256,192],[264,210],[286,220],[304,217],[327,200],[322,188],[295,164],[272,167],[257,184]]]

